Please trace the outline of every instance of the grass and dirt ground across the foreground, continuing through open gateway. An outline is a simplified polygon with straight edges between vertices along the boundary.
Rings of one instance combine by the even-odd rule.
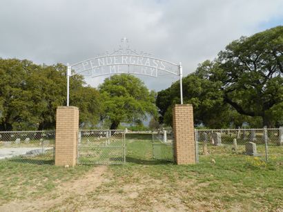
[[[269,146],[269,162],[211,146],[179,166],[153,159],[150,134],[126,135],[126,151],[108,166],[1,160],[0,211],[283,211],[283,146]]]

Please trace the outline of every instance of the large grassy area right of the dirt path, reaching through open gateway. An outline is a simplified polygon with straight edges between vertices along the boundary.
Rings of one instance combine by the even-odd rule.
[[[218,151],[201,155],[199,164],[182,166],[153,160],[150,140],[132,137],[127,149],[128,163],[110,166],[112,180],[90,193],[88,198],[99,202],[94,208],[109,207],[100,195],[116,194],[121,204],[110,204],[110,209],[147,211],[162,202],[165,209],[195,211],[283,210],[282,146],[269,146],[273,153],[269,163],[258,157]],[[138,195],[127,198],[133,191]]]

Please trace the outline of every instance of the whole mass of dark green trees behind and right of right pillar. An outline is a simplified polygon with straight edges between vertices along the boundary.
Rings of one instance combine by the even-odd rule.
[[[283,27],[241,37],[184,77],[184,102],[196,124],[219,128],[279,126],[283,120]],[[170,124],[179,81],[157,95],[161,121]],[[261,119],[261,120],[260,120]],[[260,123],[262,122],[262,123]]]

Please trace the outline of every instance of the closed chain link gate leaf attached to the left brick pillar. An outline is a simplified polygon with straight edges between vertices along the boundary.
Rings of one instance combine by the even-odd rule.
[[[126,162],[125,132],[79,131],[77,160],[78,164],[123,164]]]

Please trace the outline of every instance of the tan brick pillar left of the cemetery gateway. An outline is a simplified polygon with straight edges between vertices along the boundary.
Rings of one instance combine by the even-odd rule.
[[[59,106],[56,113],[55,165],[77,164],[79,108]]]

